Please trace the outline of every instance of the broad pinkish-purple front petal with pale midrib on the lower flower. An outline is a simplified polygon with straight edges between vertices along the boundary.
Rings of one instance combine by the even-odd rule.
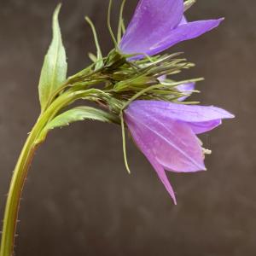
[[[201,145],[186,123],[155,117],[137,109],[125,110],[125,121],[136,124],[136,133],[153,152],[155,159],[173,172],[205,170]],[[129,127],[130,128],[130,127]]]

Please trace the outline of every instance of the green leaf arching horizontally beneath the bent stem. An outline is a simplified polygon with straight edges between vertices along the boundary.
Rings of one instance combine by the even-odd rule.
[[[67,126],[77,121],[84,121],[85,119],[97,120],[107,123],[119,124],[119,118],[113,113],[107,113],[101,109],[81,106],[67,110],[52,119],[43,129],[38,137],[37,143],[43,142],[47,133],[57,127]]]

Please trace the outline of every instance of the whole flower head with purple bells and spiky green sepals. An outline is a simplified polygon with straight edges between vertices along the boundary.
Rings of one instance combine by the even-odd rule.
[[[195,92],[195,82],[201,79],[180,82],[170,79],[173,74],[194,65],[180,58],[180,54],[162,52],[211,31],[224,20],[189,22],[184,11],[194,2],[140,0],[126,30],[121,12],[118,40],[108,20],[115,48],[107,58],[102,58],[95,33],[97,56],[90,55],[94,64],[68,80],[75,91],[78,88],[88,90],[99,81],[106,84],[104,90],[100,93],[100,90],[93,90],[86,99],[98,102],[116,116],[116,123],[123,126],[124,153],[125,125],[128,127],[175,204],[175,194],[165,170],[206,170],[204,154],[210,150],[202,148],[197,134],[212,130],[222,119],[234,118],[221,108],[184,102]],[[88,18],[87,21],[90,22]],[[94,30],[91,22],[90,25]],[[126,155],[125,165],[130,172]]]

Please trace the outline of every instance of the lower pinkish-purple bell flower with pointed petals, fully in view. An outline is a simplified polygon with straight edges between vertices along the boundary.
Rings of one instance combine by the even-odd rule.
[[[176,204],[166,171],[206,170],[196,134],[210,131],[234,115],[224,109],[161,101],[135,101],[125,109],[125,123],[138,148],[154,167]]]

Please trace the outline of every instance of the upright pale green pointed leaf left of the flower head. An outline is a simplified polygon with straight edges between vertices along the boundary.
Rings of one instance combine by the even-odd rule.
[[[39,80],[39,99],[42,111],[46,108],[53,92],[60,88],[67,79],[67,58],[58,21],[60,9],[61,4],[57,6],[53,15],[53,39],[49,45],[48,53],[44,57],[44,65]]]

